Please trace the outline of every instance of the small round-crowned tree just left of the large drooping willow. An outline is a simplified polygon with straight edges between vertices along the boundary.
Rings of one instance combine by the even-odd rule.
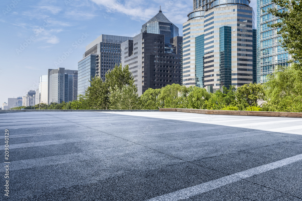
[[[236,97],[244,106],[257,107],[258,102],[265,99],[265,90],[262,84],[249,83],[238,87]]]

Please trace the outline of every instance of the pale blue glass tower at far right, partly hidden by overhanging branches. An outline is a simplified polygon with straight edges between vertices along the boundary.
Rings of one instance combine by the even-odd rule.
[[[257,83],[267,82],[267,76],[274,73],[278,66],[288,67],[291,59],[288,52],[281,47],[282,36],[278,29],[268,27],[268,24],[280,22],[278,17],[268,13],[268,8],[278,5],[271,0],[257,0]],[[282,9],[279,8],[282,12]],[[281,70],[281,69],[280,69]]]

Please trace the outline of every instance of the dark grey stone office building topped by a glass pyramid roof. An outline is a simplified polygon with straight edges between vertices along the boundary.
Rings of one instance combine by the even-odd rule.
[[[146,28],[146,24],[149,28]],[[142,33],[134,36],[133,40],[121,44],[122,65],[129,65],[139,95],[149,88],[159,89],[168,84],[182,84],[182,37],[175,33],[178,28],[162,14],[162,11],[146,24],[142,26]],[[153,32],[157,29],[160,34],[148,33],[148,30]],[[160,32],[161,30],[165,31]],[[169,43],[166,39],[167,30],[170,33]]]

